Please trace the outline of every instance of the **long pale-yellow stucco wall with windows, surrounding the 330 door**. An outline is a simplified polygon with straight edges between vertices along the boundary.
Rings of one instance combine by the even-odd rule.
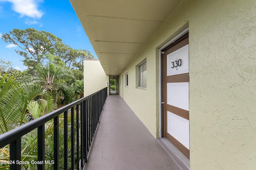
[[[156,9],[158,10],[158,9]],[[256,2],[184,0],[120,75],[124,100],[158,137],[158,49],[189,26],[190,169],[256,166]],[[136,65],[147,60],[147,89]]]

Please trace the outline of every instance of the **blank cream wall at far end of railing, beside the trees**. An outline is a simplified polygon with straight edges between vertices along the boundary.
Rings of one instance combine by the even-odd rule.
[[[84,60],[84,96],[105,88],[109,82],[98,60]],[[108,88],[109,93],[109,88]]]

